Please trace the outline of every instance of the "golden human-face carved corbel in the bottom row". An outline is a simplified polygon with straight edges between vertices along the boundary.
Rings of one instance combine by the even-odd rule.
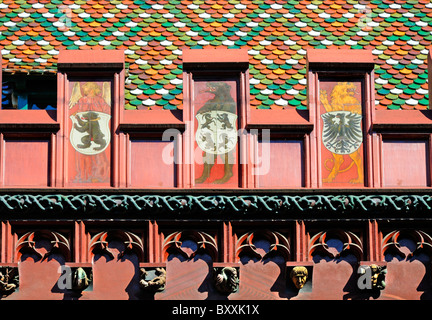
[[[293,291],[312,291],[313,262],[286,262],[287,287]]]

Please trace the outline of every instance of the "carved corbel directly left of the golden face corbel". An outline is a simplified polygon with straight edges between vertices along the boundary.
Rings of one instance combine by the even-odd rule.
[[[240,286],[240,265],[238,263],[213,263],[213,284],[224,295],[238,291]]]

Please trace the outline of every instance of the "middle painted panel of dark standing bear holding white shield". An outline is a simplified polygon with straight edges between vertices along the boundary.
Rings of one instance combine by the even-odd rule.
[[[238,184],[236,82],[198,82],[196,89],[195,142],[202,159],[197,159],[201,165],[196,165],[195,183],[235,186]]]

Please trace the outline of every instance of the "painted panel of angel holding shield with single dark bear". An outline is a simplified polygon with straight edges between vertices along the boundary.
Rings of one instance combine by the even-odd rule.
[[[69,183],[109,185],[111,82],[74,81],[69,92]]]

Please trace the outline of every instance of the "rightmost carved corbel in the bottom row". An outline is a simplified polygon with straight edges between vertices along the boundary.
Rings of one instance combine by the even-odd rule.
[[[374,292],[379,292],[385,289],[387,262],[360,261],[357,273],[359,275],[357,281],[359,289]]]

